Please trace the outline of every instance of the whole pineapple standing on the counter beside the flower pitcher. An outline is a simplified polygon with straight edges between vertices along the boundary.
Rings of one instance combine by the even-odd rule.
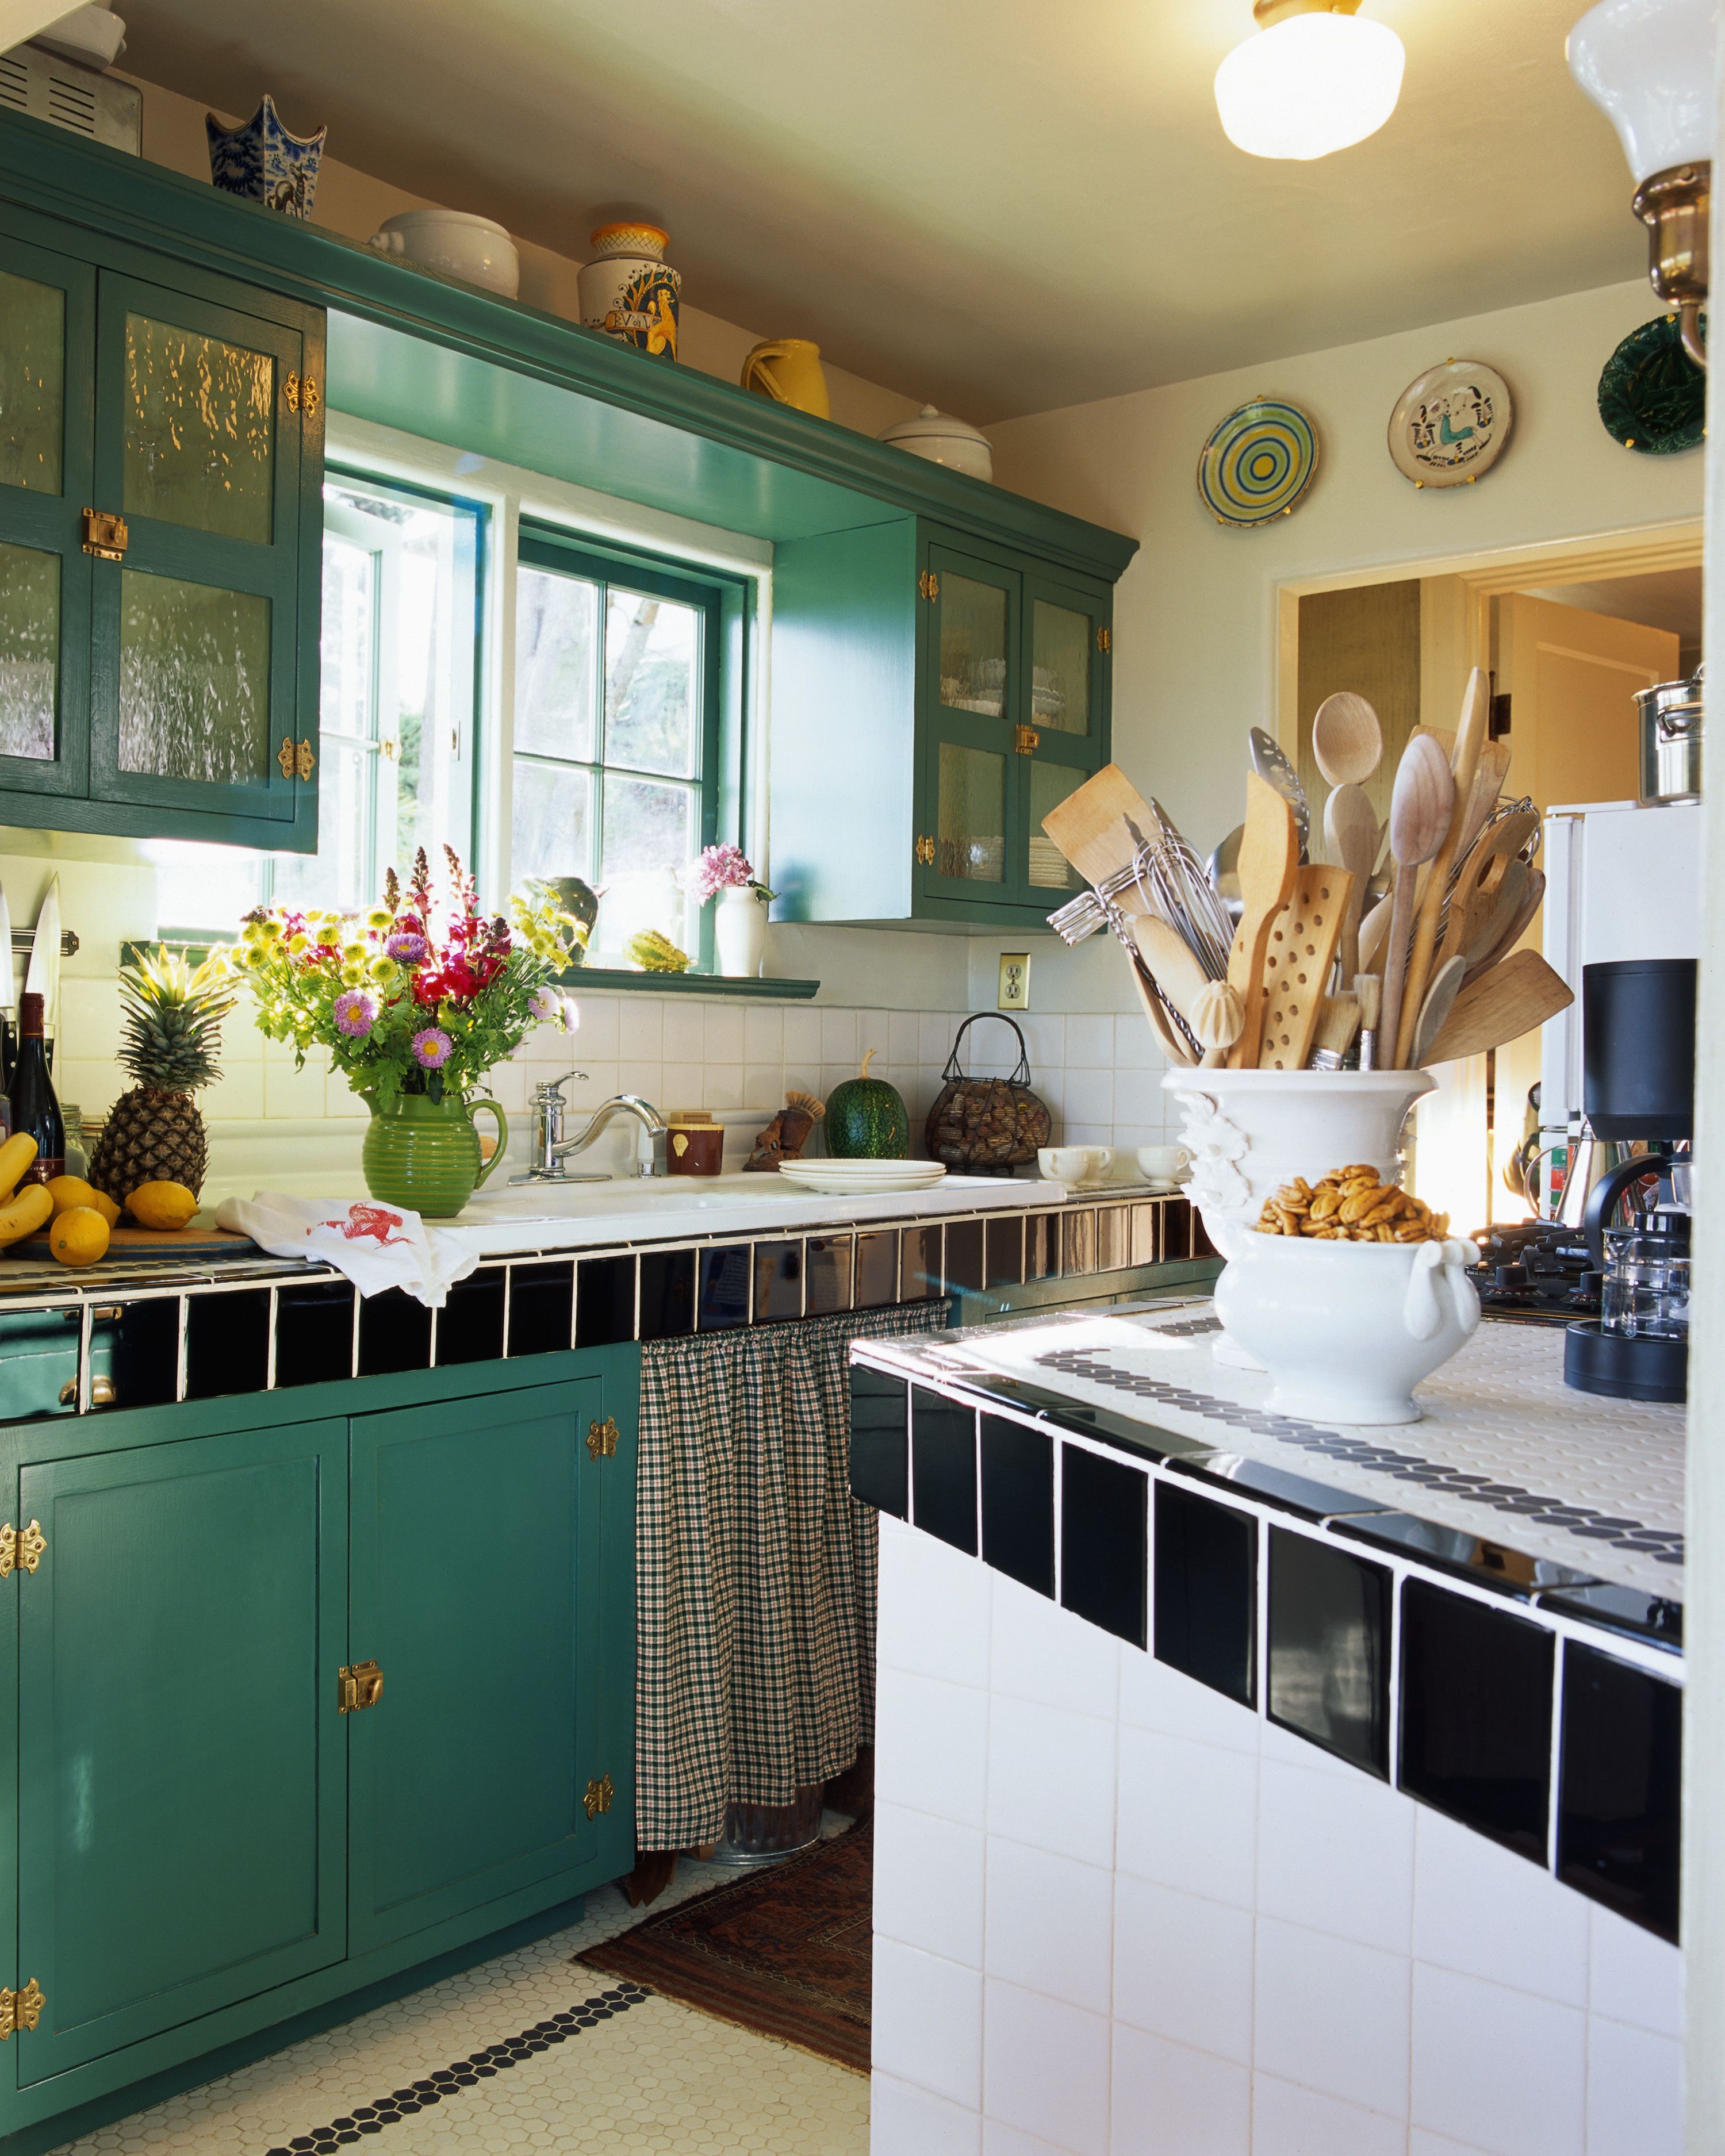
[[[218,1031],[233,1009],[218,957],[196,970],[160,951],[121,968],[125,1031],[121,1063],[136,1084],[108,1110],[91,1181],[125,1205],[140,1184],[185,1184],[196,1194],[209,1166],[209,1141],[194,1093],[216,1069]]]

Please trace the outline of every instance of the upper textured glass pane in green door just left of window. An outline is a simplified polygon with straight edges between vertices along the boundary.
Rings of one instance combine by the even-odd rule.
[[[276,362],[149,315],[125,317],[125,511],[270,543]]]

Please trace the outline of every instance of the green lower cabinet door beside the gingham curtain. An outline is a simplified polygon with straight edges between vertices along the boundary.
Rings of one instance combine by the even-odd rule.
[[[597,1378],[354,1419],[351,1951],[578,1871],[627,1809],[589,1815],[599,1757]],[[574,1889],[571,1889],[574,1891]],[[550,1897],[548,1897],[550,1899]]]

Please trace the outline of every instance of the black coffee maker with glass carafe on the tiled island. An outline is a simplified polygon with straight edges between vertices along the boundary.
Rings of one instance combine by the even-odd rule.
[[[1688,1397],[1695,959],[1581,968],[1581,1104],[1596,1138],[1641,1141],[1587,1194],[1600,1315],[1572,1324],[1563,1378],[1611,1399]],[[1634,1194],[1628,1225],[1617,1210]],[[1678,1285],[1673,1285],[1678,1283]]]

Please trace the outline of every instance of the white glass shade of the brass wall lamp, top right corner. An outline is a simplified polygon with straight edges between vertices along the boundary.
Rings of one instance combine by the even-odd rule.
[[[1716,0],[1600,0],[1570,30],[1570,73],[1617,129],[1641,185],[1712,157]]]

